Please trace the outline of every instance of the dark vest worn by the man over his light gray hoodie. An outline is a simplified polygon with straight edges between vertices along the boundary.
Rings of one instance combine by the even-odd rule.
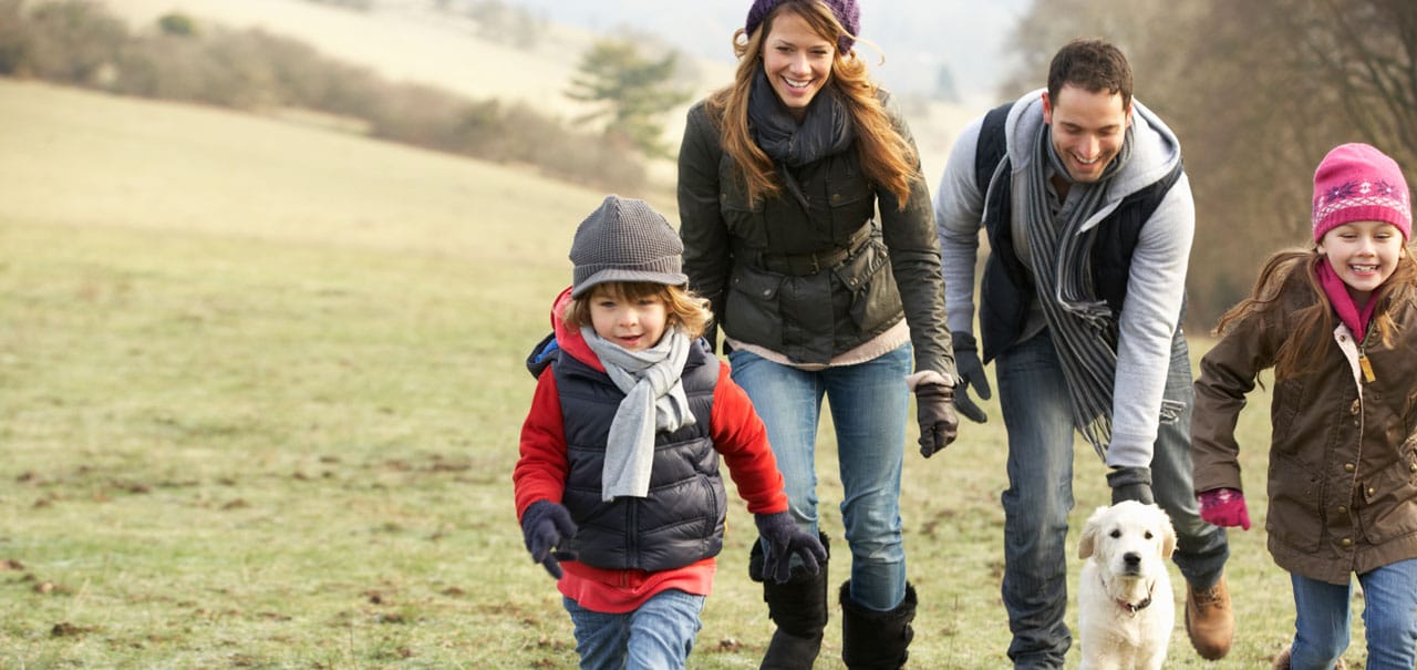
[[[1036,292],[1029,272],[1015,254],[1010,227],[1013,180],[1003,126],[1013,105],[1006,102],[985,115],[979,143],[975,146],[975,184],[985,193],[983,225],[989,238],[989,259],[979,285],[979,341],[985,363],[1017,343],[1027,317],[1029,299]],[[998,170],[1000,163],[1002,170]],[[990,184],[996,170],[1002,178]],[[1170,173],[1127,195],[1098,224],[1090,263],[1093,286],[1097,288],[1098,297],[1112,309],[1114,319],[1121,314],[1122,302],[1127,300],[1136,238],[1180,174],[1182,164],[1178,161]]]

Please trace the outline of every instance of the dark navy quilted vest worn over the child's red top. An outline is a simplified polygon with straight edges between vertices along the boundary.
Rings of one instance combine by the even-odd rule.
[[[577,560],[602,569],[663,571],[717,555],[728,514],[718,476],[718,452],[708,438],[718,358],[694,340],[683,385],[696,424],[655,435],[649,497],[601,501],[601,470],[611,421],[625,394],[572,356],[551,367],[565,426],[567,482],[563,504],[580,528],[571,540]]]

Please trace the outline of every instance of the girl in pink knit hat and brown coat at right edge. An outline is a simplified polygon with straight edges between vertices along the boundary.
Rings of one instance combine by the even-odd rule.
[[[1270,552],[1291,575],[1275,669],[1342,664],[1363,586],[1367,667],[1417,666],[1417,263],[1407,183],[1367,144],[1314,173],[1314,242],[1265,263],[1200,361],[1192,450],[1200,516],[1250,528],[1234,428],[1274,367]]]

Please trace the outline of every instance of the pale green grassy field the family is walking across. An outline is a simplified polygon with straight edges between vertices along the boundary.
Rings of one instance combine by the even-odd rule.
[[[0,127],[0,667],[575,666],[510,472],[523,357],[601,193],[10,81]],[[907,455],[911,667],[1007,664],[986,409],[945,453]],[[1264,421],[1244,418],[1251,492]],[[1107,496],[1077,453],[1074,528]],[[820,472],[840,537],[835,462]],[[1236,649],[1200,662],[1178,616],[1168,667],[1268,667],[1288,639],[1263,496],[1251,514],[1231,535]],[[757,667],[751,538],[735,504],[691,667]],[[819,667],[840,664],[839,620]]]

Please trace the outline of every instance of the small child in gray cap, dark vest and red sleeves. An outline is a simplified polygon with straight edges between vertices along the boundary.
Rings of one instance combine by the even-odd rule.
[[[527,361],[517,516],[582,669],[684,667],[723,548],[720,453],[769,538],[767,572],[826,561],[786,511],[762,422],[699,337],[708,312],[684,289],[682,251],[648,204],[606,197],[575,231],[572,285]]]

